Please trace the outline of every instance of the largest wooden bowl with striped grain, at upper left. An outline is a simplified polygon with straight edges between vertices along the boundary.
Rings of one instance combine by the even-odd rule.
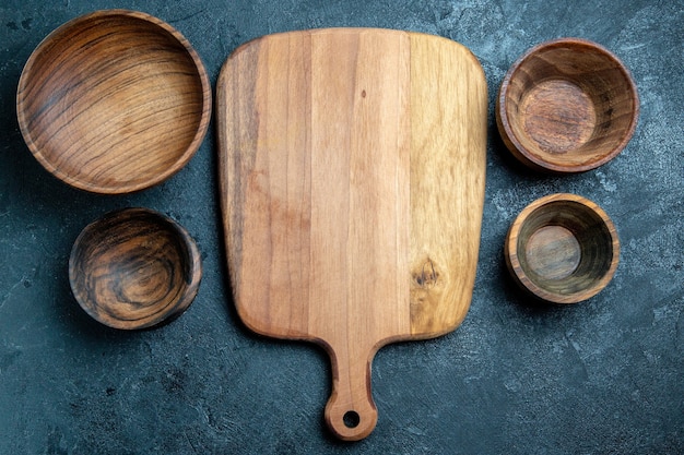
[[[36,159],[96,193],[160,183],[194,155],[211,116],[207,71],[186,38],[149,14],[105,10],[49,34],[16,94]]]

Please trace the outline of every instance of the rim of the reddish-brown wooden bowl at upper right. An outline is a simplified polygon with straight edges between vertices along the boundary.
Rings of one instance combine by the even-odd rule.
[[[507,105],[506,95],[508,93],[508,88],[510,87],[510,81],[512,80],[515,73],[518,71],[520,65],[524,63],[532,55],[541,50],[555,48],[555,47],[563,47],[563,46],[568,46],[568,45],[573,47],[585,47],[585,48],[592,49],[597,51],[598,53],[603,55],[613,63],[615,63],[615,67],[623,73],[623,76],[625,81],[627,82],[627,85],[629,87],[629,95],[633,99],[633,105],[634,105],[634,110],[632,113],[629,127],[625,135],[622,137],[620,144],[613,147],[613,149],[610,151],[609,153],[605,153],[601,158],[587,163],[587,164],[582,164],[582,165],[556,164],[556,163],[542,159],[538,155],[530,153],[526,147],[522,146],[522,144],[520,143],[520,141],[514,133],[514,130],[510,127],[508,111],[506,109],[506,105]],[[634,77],[632,76],[632,73],[629,72],[629,69],[627,69],[627,67],[622,62],[622,60],[620,60],[620,58],[617,58],[617,56],[615,56],[615,53],[613,53],[612,51],[610,51],[608,48],[603,47],[602,45],[591,41],[589,39],[576,38],[576,37],[561,37],[561,38],[550,39],[550,40],[540,43],[535,46],[532,46],[531,48],[526,50],[520,57],[518,57],[518,59],[516,59],[516,61],[510,65],[510,68],[506,72],[506,75],[504,76],[502,84],[499,85],[498,94],[496,96],[496,107],[494,110],[496,115],[497,128],[499,130],[502,139],[504,140],[504,143],[506,144],[507,148],[512,153],[512,155],[516,158],[518,158],[521,163],[523,163],[524,165],[527,165],[528,167],[534,170],[546,171],[546,172],[552,172],[552,173],[575,173],[575,172],[585,172],[587,170],[595,169],[606,164],[614,157],[616,157],[625,148],[627,143],[632,140],[634,132],[636,131],[636,127],[637,127],[638,118],[639,118],[640,103],[639,103],[639,94],[637,92],[636,83],[634,81]]]

